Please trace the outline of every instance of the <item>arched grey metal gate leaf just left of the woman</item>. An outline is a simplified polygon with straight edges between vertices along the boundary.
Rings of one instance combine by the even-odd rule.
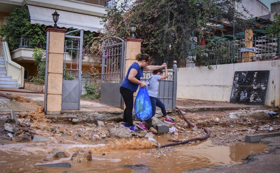
[[[123,80],[124,40],[106,37],[103,40],[100,103],[122,107],[120,85]]]

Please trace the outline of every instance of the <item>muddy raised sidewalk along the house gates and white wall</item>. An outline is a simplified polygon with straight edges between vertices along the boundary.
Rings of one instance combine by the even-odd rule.
[[[10,91],[1,91],[10,90]],[[30,92],[26,89],[0,88],[0,94],[6,95],[7,92],[17,94],[24,97],[28,102],[44,106],[44,94],[38,93],[23,93],[15,91]],[[204,101],[191,99],[176,99],[176,106],[184,112],[204,112],[204,111],[225,111],[225,110],[239,110],[239,109],[267,109],[269,106],[255,106],[233,104],[229,102],[219,101]],[[11,100],[5,97],[0,97],[0,112],[10,112],[13,109],[15,112],[27,112],[36,110],[36,106],[29,106],[20,101]],[[84,113],[84,112],[98,112],[98,113],[114,113],[122,114],[123,110],[116,106],[101,104],[97,101],[88,99],[81,99],[80,110],[62,110],[61,113]]]

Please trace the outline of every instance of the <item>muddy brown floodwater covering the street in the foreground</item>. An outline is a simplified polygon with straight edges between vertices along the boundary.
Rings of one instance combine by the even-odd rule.
[[[170,136],[156,136],[160,144]],[[61,141],[63,140],[63,141]],[[173,146],[171,148],[155,148],[155,143],[145,139],[101,140],[82,143],[72,137],[51,137],[46,142],[12,143],[0,146],[0,172],[184,172],[194,168],[220,165],[240,164],[248,155],[265,152],[264,144],[237,143],[234,146],[215,146],[209,140]],[[62,143],[63,142],[63,143]],[[109,142],[109,143],[108,143]],[[65,151],[68,158],[48,158],[53,148]],[[92,151],[92,161],[70,161],[72,154],[78,149]],[[102,155],[103,154],[103,155]],[[40,164],[69,162],[70,168],[52,168],[38,166]],[[125,168],[128,165],[143,164],[146,168]]]

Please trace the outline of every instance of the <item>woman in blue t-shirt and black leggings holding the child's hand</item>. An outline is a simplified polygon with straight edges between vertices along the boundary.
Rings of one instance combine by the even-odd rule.
[[[129,131],[140,131],[132,122],[132,109],[133,109],[133,93],[137,91],[138,86],[146,86],[145,81],[140,81],[143,78],[143,71],[152,71],[162,69],[166,66],[163,65],[149,65],[152,64],[153,59],[148,54],[136,54],[137,62],[134,62],[128,68],[128,72],[120,87],[120,93],[124,99],[126,108],[124,109],[124,118],[121,127],[127,128]]]

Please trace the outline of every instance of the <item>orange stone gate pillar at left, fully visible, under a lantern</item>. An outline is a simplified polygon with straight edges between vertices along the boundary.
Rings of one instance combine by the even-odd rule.
[[[47,69],[47,93],[46,93],[46,111],[61,111],[62,94],[62,72],[63,72],[63,53],[64,53],[64,29],[48,28],[48,69]]]

